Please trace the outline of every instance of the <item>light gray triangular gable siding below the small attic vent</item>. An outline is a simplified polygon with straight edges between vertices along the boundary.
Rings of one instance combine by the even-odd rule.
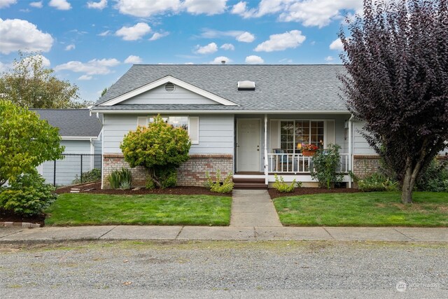
[[[165,90],[165,84],[140,95],[127,99],[121,104],[218,104],[207,97],[197,95],[176,85],[175,90]]]

